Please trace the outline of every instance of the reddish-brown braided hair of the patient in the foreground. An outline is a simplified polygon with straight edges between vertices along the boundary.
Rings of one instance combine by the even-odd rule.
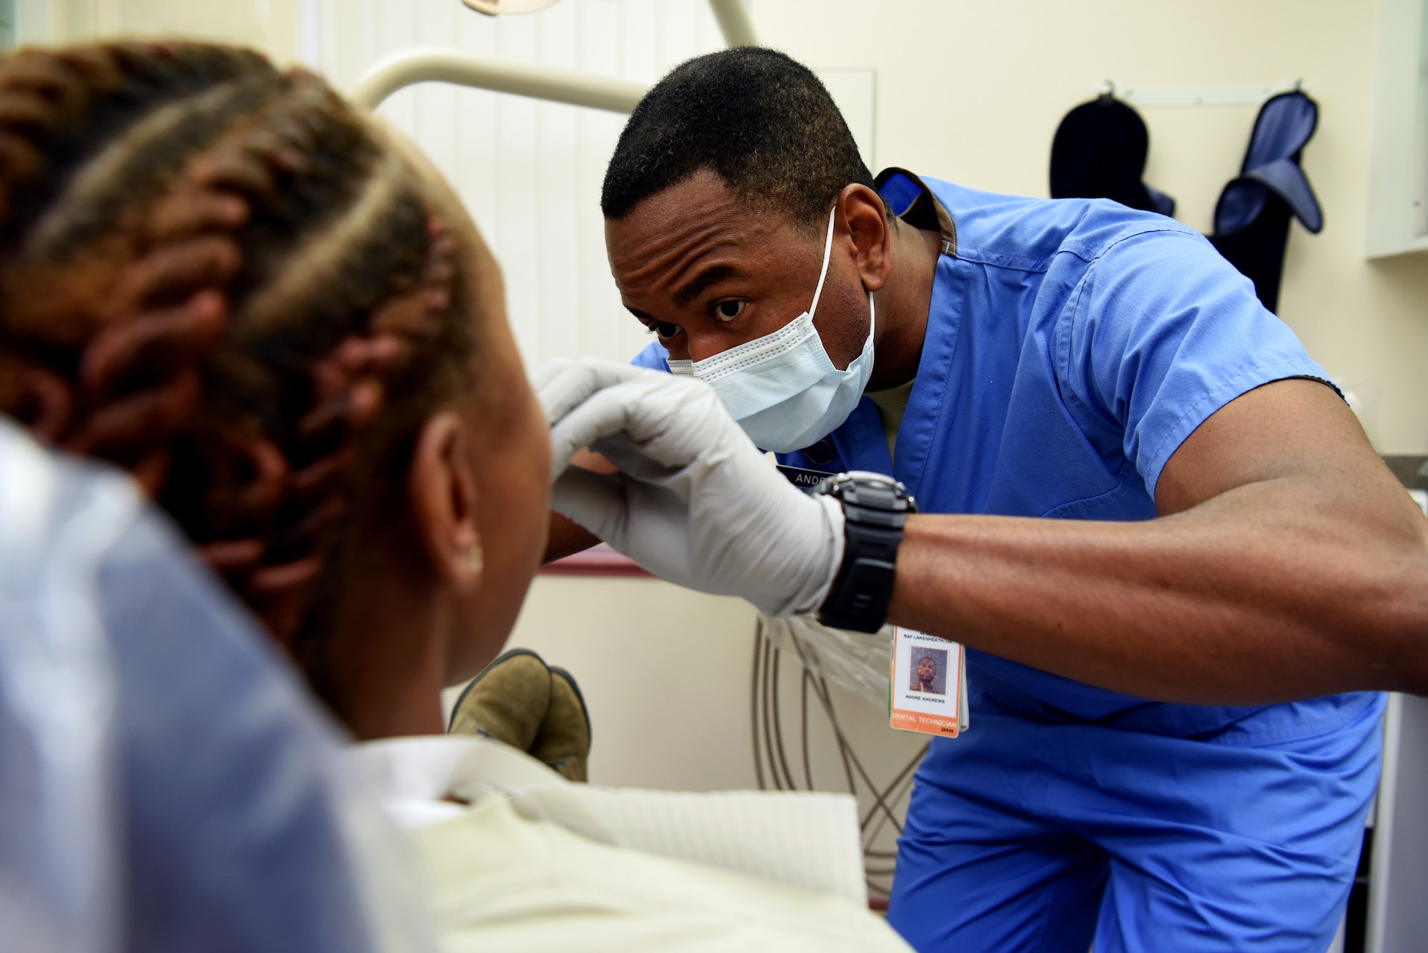
[[[201,44],[0,61],[0,411],[127,468],[328,700],[353,506],[468,382],[463,294],[317,77]]]

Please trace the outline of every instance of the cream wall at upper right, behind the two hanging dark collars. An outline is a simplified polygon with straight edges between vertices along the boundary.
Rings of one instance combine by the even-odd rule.
[[[1377,4],[1369,0],[754,0],[760,39],[814,67],[874,67],[877,161],[1047,194],[1057,123],[1107,78],[1304,78],[1319,235],[1292,225],[1281,317],[1359,398],[1381,452],[1428,452],[1428,255],[1364,257]],[[1210,228],[1255,107],[1141,107],[1147,181]]]

